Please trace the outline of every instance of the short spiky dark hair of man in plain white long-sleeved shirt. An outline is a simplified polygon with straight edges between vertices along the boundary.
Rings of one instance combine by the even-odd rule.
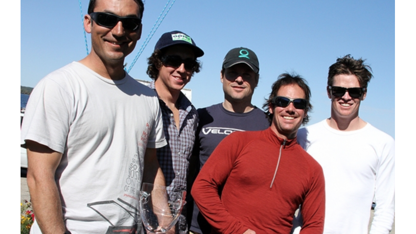
[[[350,54],[337,58],[337,62],[329,67],[328,86],[332,86],[334,83],[334,76],[347,74],[357,76],[361,88],[367,88],[373,75],[371,74],[370,66],[364,64],[365,61],[362,58],[354,59]]]

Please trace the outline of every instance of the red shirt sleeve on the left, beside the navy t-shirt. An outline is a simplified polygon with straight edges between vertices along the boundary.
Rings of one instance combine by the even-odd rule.
[[[192,197],[215,232],[243,234],[249,228],[231,216],[221,202],[218,188],[229,177],[242,149],[241,133],[233,133],[220,142],[209,156],[192,187]]]

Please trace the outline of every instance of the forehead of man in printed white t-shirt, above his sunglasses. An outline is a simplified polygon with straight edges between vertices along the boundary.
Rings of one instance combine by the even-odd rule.
[[[140,17],[140,7],[135,0],[96,0],[93,11]]]

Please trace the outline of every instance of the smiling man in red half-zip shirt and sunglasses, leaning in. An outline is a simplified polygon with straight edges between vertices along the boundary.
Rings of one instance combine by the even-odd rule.
[[[272,122],[257,132],[225,138],[199,173],[192,196],[220,234],[290,233],[302,205],[301,234],[324,229],[324,175],[297,143],[308,121],[310,89],[300,76],[282,74],[263,106]],[[299,172],[301,171],[301,175]]]

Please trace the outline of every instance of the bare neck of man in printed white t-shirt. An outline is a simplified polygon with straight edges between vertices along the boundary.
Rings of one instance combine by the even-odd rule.
[[[124,60],[114,63],[103,61],[93,52],[93,50],[87,57],[79,62],[107,79],[121,80],[126,75],[123,65]]]

